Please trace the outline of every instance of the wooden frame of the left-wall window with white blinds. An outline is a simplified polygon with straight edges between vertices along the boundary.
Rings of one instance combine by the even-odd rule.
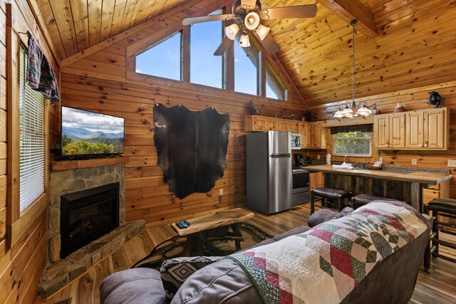
[[[11,17],[11,11],[7,7],[7,19]],[[44,192],[24,211],[20,211],[20,122],[19,122],[19,63],[21,62],[21,44],[27,50],[26,36],[19,36],[11,26],[6,28],[6,62],[11,64],[7,69],[7,127],[8,127],[8,162],[6,181],[10,185],[6,191],[8,204],[6,205],[7,226],[7,248],[11,248],[21,241],[22,237],[31,225],[40,218],[39,216],[46,211],[49,201],[48,178],[49,178],[49,123],[48,107],[49,100],[44,99]],[[14,63],[14,64],[13,64]]]

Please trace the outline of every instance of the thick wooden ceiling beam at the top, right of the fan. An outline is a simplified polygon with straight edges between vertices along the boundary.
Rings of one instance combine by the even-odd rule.
[[[319,4],[332,11],[347,23],[358,19],[357,28],[365,36],[373,38],[377,36],[377,27],[372,16],[371,9],[358,0],[317,0]]]

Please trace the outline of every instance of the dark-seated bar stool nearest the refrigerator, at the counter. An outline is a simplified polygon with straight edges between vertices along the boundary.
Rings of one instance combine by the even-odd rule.
[[[311,214],[314,214],[315,207],[333,209],[341,211],[345,206],[344,200],[351,199],[353,194],[349,191],[333,188],[316,188],[311,190]],[[321,201],[321,204],[316,204]],[[332,204],[337,204],[337,208],[332,208]]]

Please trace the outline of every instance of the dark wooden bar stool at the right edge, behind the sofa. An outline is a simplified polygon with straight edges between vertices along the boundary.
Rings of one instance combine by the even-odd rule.
[[[455,258],[451,258],[450,256],[444,256],[439,253],[439,245],[456,249],[456,243],[452,243],[450,241],[443,241],[439,238],[440,232],[456,236],[455,231],[445,229],[446,227],[456,229],[455,224],[439,221],[439,216],[444,216],[449,219],[456,219],[456,199],[432,199],[432,201],[430,201],[429,204],[425,204],[424,209],[425,213],[427,214],[429,214],[429,211],[432,211],[432,217],[434,218],[434,222],[432,224],[432,235],[430,237],[430,241],[432,242],[430,252],[432,253],[432,256],[444,258],[447,261],[452,261],[456,263]],[[441,226],[442,228],[440,229],[439,226]],[[425,268],[430,268],[430,256],[425,258]]]

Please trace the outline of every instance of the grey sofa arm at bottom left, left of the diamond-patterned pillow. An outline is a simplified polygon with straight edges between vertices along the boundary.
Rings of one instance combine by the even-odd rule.
[[[170,303],[165,297],[160,273],[150,268],[119,271],[100,284],[100,303]]]

